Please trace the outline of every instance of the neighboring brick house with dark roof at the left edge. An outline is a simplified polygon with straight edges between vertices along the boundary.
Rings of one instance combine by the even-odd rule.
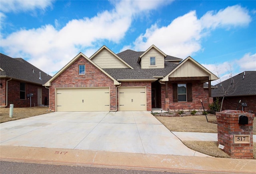
[[[49,89],[42,86],[52,76],[22,58],[0,53],[0,106],[15,108],[48,105]]]

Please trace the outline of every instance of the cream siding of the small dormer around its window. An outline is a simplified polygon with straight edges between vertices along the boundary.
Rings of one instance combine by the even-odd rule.
[[[150,66],[150,57],[156,57],[156,66]],[[148,51],[148,53],[143,55],[140,65],[142,69],[164,68],[164,55],[152,48]]]

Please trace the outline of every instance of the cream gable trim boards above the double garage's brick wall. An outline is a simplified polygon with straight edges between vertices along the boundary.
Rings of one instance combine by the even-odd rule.
[[[100,68],[100,66],[98,66],[96,63],[94,63],[92,60],[90,60],[88,57],[86,57],[86,55],[84,55],[83,53],[79,53],[76,57],[74,57],[74,59],[72,59],[67,65],[65,65],[59,72],[57,72],[50,80],[48,80],[44,84],[44,86],[51,86],[51,82],[54,79],[56,79],[60,74],[62,74],[62,72],[64,72],[64,70],[66,70],[70,65],[72,65],[81,56],[84,59],[86,59],[88,62],[92,63],[92,65],[96,66],[96,68],[98,68],[100,71],[102,71],[104,74],[106,74],[109,78],[111,78],[114,81],[114,85],[120,84],[117,80],[115,80],[112,76],[110,76],[106,71],[104,71],[102,68]]]

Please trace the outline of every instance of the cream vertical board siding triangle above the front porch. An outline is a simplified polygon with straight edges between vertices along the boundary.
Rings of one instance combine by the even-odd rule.
[[[205,70],[188,60],[170,74],[169,77],[203,77],[209,75]]]

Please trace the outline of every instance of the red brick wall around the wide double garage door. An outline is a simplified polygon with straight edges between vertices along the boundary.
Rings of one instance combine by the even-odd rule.
[[[85,65],[85,75],[79,75],[79,65]],[[110,87],[110,110],[116,109],[116,86],[106,74],[80,56],[51,82],[50,109],[55,111],[55,88]]]

